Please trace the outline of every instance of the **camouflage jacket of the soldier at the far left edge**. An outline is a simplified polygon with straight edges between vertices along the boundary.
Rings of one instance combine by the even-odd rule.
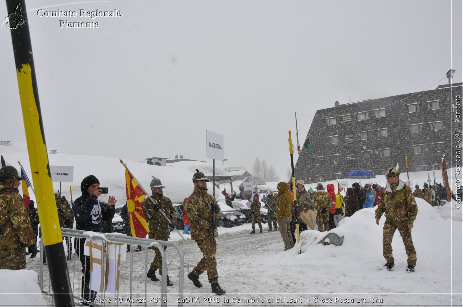
[[[36,243],[31,220],[18,189],[0,184],[0,251],[13,250]]]

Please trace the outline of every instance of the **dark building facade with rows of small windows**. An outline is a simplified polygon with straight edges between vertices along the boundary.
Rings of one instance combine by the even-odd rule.
[[[410,172],[431,171],[432,165],[440,169],[442,153],[447,166],[455,166],[457,95],[462,83],[318,110],[307,134],[312,151],[302,148],[296,178],[335,180],[356,169],[381,175],[396,163],[405,172],[405,156]]]

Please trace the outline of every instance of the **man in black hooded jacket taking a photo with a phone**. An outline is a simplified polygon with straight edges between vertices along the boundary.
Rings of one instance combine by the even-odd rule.
[[[114,217],[114,205],[117,200],[114,196],[109,196],[104,205],[100,205],[98,197],[101,195],[100,181],[89,175],[82,180],[82,196],[78,197],[72,209],[75,216],[75,228],[85,231],[101,232],[104,221],[112,221]],[[82,304],[88,305],[87,301],[93,301],[96,292],[90,290],[90,258],[84,255],[85,239],[75,239],[75,252],[79,255],[82,264]]]

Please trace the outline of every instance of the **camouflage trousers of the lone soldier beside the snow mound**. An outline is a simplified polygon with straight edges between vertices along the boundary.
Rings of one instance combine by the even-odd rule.
[[[394,237],[395,229],[399,230],[402,241],[407,252],[407,264],[416,266],[416,251],[412,241],[412,231],[408,229],[407,224],[395,225],[394,223],[384,223],[382,233],[382,255],[387,262],[394,262],[392,256],[392,238]]]

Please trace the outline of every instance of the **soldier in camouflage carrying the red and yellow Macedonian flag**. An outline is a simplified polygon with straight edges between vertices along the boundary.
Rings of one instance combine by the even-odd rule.
[[[163,188],[165,188],[165,185],[161,183],[160,179],[153,177],[151,180],[150,188],[153,192],[151,198],[153,198],[156,203],[153,203],[150,197],[145,197],[142,204],[143,214],[146,218],[146,221],[148,222],[148,227],[150,228],[148,238],[153,240],[167,241],[170,234],[169,226],[173,228],[176,227],[177,213],[175,212],[174,206],[172,205],[170,199],[163,195]],[[169,218],[170,221],[164,217],[160,210]],[[157,282],[159,279],[156,277],[156,270],[159,269],[159,274],[163,274],[163,261],[161,258],[161,253],[157,250],[157,248],[154,246],[151,248],[154,250],[155,256],[153,262],[151,263],[150,270],[148,270],[146,276],[152,281]],[[167,246],[164,246],[164,251],[166,248]],[[166,278],[167,285],[172,286],[173,283],[170,281],[167,272]]]

